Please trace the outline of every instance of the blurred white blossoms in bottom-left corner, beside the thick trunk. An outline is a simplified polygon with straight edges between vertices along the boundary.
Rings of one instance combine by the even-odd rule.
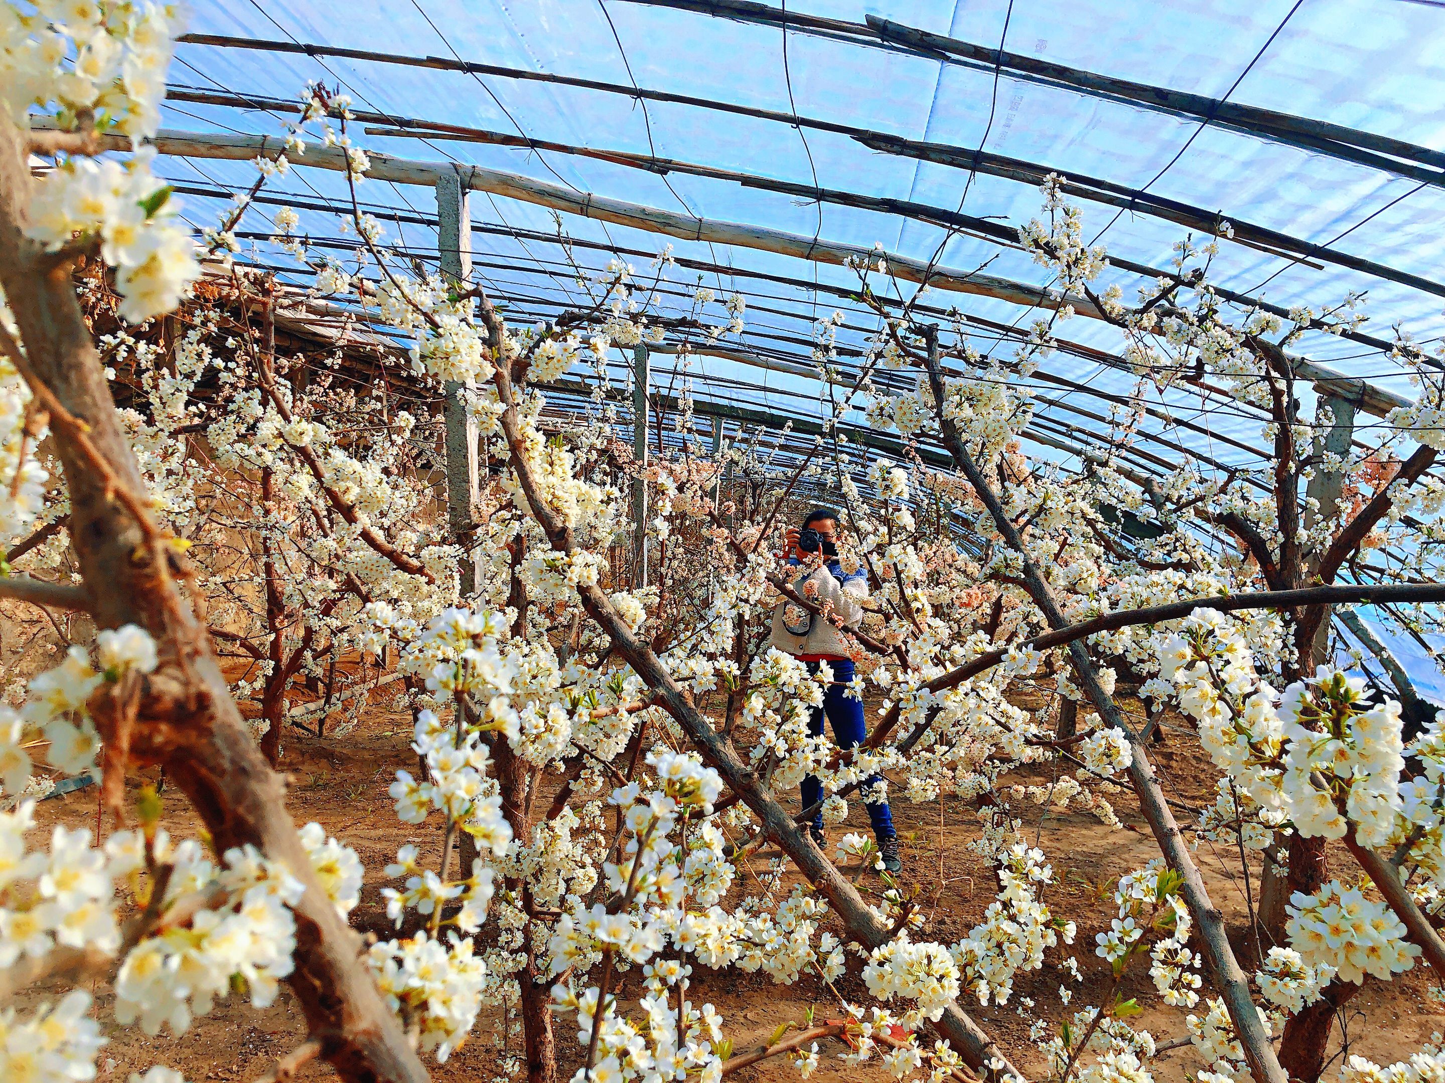
[[[246,989],[256,1006],[275,1001],[279,979],[292,972],[290,904],[302,892],[285,866],[253,846],[228,849],[217,865],[199,842],[172,843],[153,817],[143,830],[111,833],[103,848],[92,846],[88,829],[56,825],[48,852],[30,849],[33,827],[33,801],[0,813],[0,966],[43,967],[64,949],[100,956],[124,950],[114,985],[116,1021],[150,1035],[162,1027],[186,1032],[197,1015],[236,988]],[[360,885],[355,853],[315,823],[302,838],[338,908],[350,908]],[[328,877],[328,869],[340,875]],[[156,891],[163,894],[152,898]],[[130,939],[117,917],[126,898],[156,914]],[[81,991],[26,1018],[14,1008],[0,1014],[0,1067],[7,1079],[92,1079],[104,1043],[91,998]],[[166,1071],[153,1069],[147,1079],[171,1079]]]

